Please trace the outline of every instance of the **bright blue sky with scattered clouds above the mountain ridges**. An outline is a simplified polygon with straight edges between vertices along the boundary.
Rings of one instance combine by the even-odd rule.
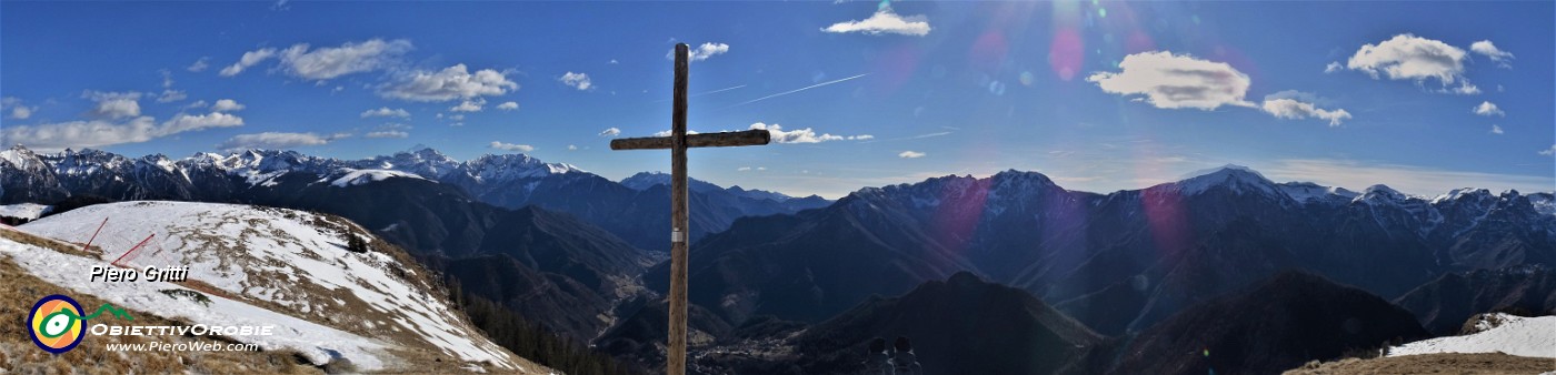
[[[0,142],[347,159],[420,143],[621,179],[668,170],[668,152],[607,143],[669,128],[666,56],[685,42],[705,58],[691,129],[786,140],[694,149],[692,176],[724,185],[839,198],[1013,168],[1113,191],[1237,163],[1354,190],[1550,191],[1553,8],[3,2]]]

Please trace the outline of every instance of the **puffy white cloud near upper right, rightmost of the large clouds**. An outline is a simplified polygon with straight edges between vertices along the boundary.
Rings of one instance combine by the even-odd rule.
[[[1377,45],[1362,45],[1346,61],[1346,67],[1366,72],[1372,78],[1379,78],[1379,73],[1390,79],[1418,82],[1436,78],[1442,86],[1449,86],[1464,78],[1464,50],[1441,40],[1399,34]]]

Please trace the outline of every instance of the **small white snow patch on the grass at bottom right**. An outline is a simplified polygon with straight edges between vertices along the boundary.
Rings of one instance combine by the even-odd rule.
[[[1556,316],[1495,314],[1500,325],[1480,322],[1480,333],[1416,341],[1393,347],[1388,356],[1430,353],[1492,353],[1556,358]]]

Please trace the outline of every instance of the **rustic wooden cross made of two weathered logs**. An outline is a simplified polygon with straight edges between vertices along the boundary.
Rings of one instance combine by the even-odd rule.
[[[671,149],[671,327],[664,373],[686,373],[686,148],[759,146],[772,142],[767,131],[713,132],[686,135],[686,75],[689,59],[686,44],[675,45],[675,101],[671,110],[669,137],[619,138],[610,149]]]

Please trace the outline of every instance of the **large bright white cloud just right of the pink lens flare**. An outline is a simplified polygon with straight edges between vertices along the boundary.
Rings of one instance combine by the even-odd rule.
[[[1248,75],[1226,62],[1195,59],[1170,51],[1145,51],[1123,58],[1120,72],[1097,72],[1086,81],[1097,82],[1103,92],[1119,95],[1144,95],[1144,101],[1156,107],[1217,109],[1220,106],[1245,106]]]

